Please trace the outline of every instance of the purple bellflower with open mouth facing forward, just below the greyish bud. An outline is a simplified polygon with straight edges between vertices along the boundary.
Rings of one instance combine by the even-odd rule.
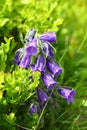
[[[37,48],[37,40],[33,39],[31,42],[29,42],[25,48],[27,55],[35,56],[37,54],[38,48]]]

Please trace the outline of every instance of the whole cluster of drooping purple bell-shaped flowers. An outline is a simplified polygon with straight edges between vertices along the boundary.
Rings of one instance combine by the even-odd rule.
[[[16,51],[14,62],[21,68],[32,68],[33,71],[41,73],[41,80],[46,86],[46,90],[52,90],[58,82],[55,79],[62,73],[62,68],[54,60],[54,48],[51,42],[56,42],[54,32],[37,35],[36,30],[32,29],[25,37],[26,44],[23,48]],[[35,58],[33,58],[35,57]],[[33,60],[35,59],[35,61]],[[67,100],[73,102],[75,91],[66,87],[59,87],[58,93]],[[33,104],[30,113],[40,113],[41,103],[44,105],[49,99],[49,95],[41,87],[37,88],[39,104]]]

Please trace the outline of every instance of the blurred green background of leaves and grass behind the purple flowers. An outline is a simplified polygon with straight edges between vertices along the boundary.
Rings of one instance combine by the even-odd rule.
[[[56,32],[55,59],[64,68],[58,81],[76,90],[75,102],[58,101],[59,109],[47,111],[38,129],[87,130],[87,0],[0,0],[1,72],[16,69],[15,51],[31,28],[40,34]],[[0,99],[2,93],[0,86]]]

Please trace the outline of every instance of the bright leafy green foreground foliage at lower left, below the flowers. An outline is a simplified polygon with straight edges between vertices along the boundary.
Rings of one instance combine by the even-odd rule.
[[[31,75],[34,79],[33,82],[31,79],[29,80]],[[5,125],[4,129],[13,129],[12,126],[16,118],[18,120],[16,114],[20,114],[22,109],[28,113],[26,102],[31,102],[32,96],[35,97],[35,88],[39,84],[39,76],[38,72],[33,73],[30,69],[23,70],[21,68],[17,68],[12,73],[0,72],[0,111],[2,117],[0,124],[1,126]]]

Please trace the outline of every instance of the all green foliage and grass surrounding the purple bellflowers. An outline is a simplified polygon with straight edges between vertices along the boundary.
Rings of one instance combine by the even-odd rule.
[[[0,0],[1,130],[22,126],[33,129],[38,124],[37,115],[29,115],[28,109],[37,98],[35,89],[40,74],[18,68],[13,62],[15,51],[23,46],[23,38],[30,28],[36,28],[39,33],[56,31],[55,59],[64,68],[58,81],[76,90],[71,105],[60,97],[55,104],[48,103],[37,129],[87,129],[86,5],[86,0]],[[34,82],[29,79],[31,75]],[[25,107],[27,100],[29,105]]]

